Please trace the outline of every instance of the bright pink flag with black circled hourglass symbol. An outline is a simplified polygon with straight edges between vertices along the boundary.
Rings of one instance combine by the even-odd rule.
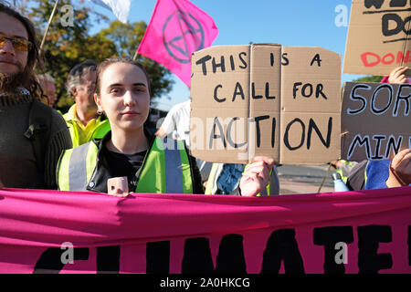
[[[217,35],[213,18],[190,1],[158,0],[137,52],[163,64],[190,87],[191,54],[210,47]]]

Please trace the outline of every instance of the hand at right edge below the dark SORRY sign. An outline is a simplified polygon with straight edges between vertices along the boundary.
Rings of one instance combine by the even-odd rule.
[[[390,164],[386,186],[395,188],[411,183],[411,149],[399,151]]]

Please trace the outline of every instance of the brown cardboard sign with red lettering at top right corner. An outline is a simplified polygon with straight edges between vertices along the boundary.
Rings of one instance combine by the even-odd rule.
[[[382,76],[410,67],[410,20],[407,0],[353,0],[342,72]]]

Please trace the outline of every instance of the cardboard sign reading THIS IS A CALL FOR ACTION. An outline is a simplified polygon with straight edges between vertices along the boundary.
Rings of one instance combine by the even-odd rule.
[[[340,155],[341,56],[278,44],[192,57],[190,145],[206,162],[331,162]]]

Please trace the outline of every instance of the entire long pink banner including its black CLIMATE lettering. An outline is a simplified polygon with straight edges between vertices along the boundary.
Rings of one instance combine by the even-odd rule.
[[[411,187],[274,197],[0,190],[0,273],[410,273]]]

